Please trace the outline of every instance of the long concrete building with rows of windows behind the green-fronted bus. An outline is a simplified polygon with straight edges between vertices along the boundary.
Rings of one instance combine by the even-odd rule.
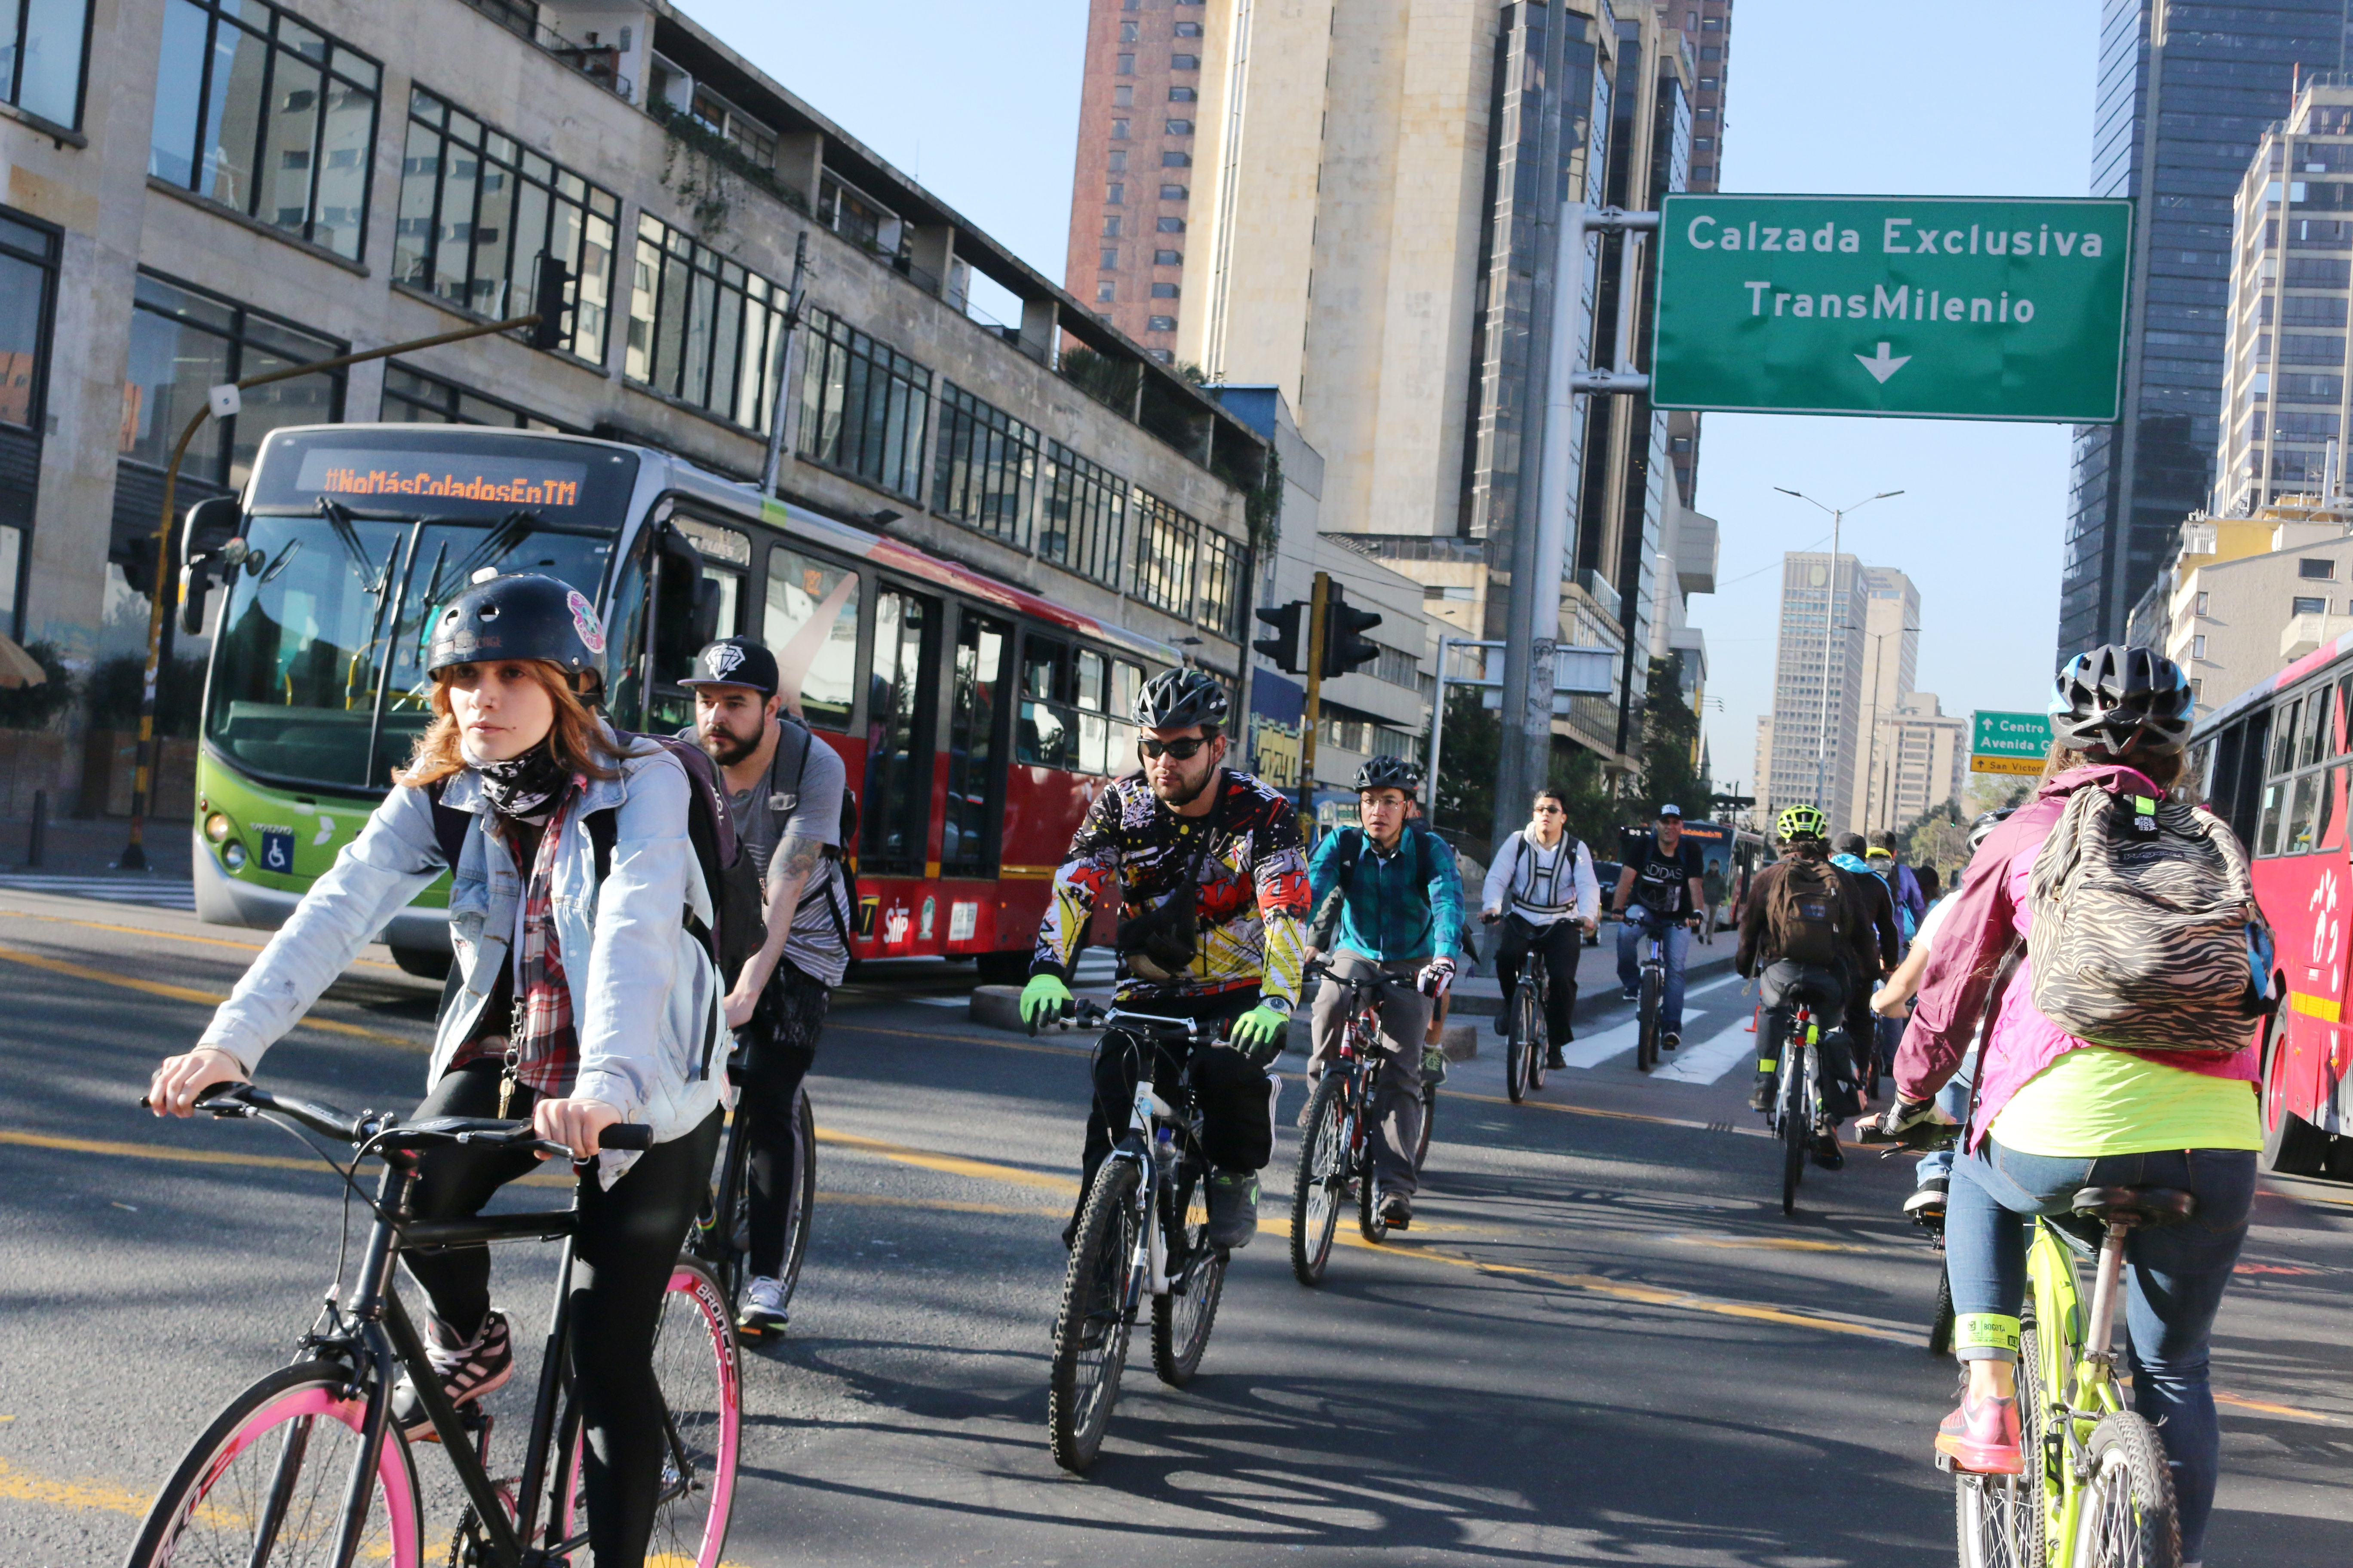
[[[784,494],[1240,677],[1264,421],[666,0],[92,0],[89,47],[49,45],[0,103],[0,630],[75,661],[141,646],[162,461],[207,386],[499,320],[539,254],[574,275],[560,348],[489,336],[252,390],[181,501],[240,484],[266,430],[339,418],[755,475],[807,237]],[[974,273],[1016,322],[974,310]],[[1421,630],[1400,611],[1384,635]]]

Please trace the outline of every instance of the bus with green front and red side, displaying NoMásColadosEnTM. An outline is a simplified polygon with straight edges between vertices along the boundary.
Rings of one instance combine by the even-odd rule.
[[[275,430],[233,508],[188,527],[193,614],[224,592],[195,773],[195,898],[278,926],[431,719],[433,611],[485,567],[586,592],[624,729],[682,726],[678,679],[748,632],[859,804],[856,957],[1026,973],[1049,879],[1125,722],[1179,651],[882,534],[616,442],[473,425]],[[447,879],[393,917],[402,969],[449,964]]]

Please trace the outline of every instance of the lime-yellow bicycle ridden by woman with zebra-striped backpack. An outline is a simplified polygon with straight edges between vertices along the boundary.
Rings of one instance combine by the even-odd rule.
[[[2179,1568],[2181,1521],[2158,1432],[2125,1408],[2108,1340],[2125,1272],[2125,1239],[2141,1225],[2191,1218],[2172,1187],[2085,1187],[2068,1208],[2099,1225],[2092,1307],[2078,1295],[2071,1237],[2035,1220],[2026,1253],[2031,1316],[2019,1333],[2019,1448],[2024,1474],[1953,1476],[1962,1568]]]

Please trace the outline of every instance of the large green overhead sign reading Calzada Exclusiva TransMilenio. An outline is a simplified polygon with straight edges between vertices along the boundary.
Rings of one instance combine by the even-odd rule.
[[[1671,195],[1652,404],[2111,423],[2129,200]]]

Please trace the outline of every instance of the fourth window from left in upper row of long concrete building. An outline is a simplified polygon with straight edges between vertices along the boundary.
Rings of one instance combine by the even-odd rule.
[[[621,369],[746,430],[767,430],[784,301],[781,284],[640,212]]]

